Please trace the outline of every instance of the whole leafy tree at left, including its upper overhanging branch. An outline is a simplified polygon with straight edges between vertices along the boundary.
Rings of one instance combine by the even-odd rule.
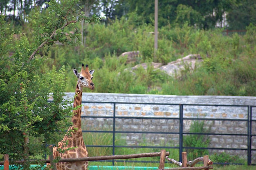
[[[72,105],[65,100],[65,66],[58,72],[42,70],[45,56],[40,56],[45,46],[48,49],[56,41],[70,45],[79,44],[80,34],[76,24],[97,22],[99,17],[85,17],[74,8],[78,0],[50,1],[44,11],[31,11],[29,24],[33,39],[21,34],[15,39],[9,25],[0,15],[0,154],[9,154],[13,160],[44,155],[45,144],[55,144],[59,133],[70,126]],[[66,27],[76,30],[66,35]],[[10,34],[11,33],[11,34]],[[53,102],[47,102],[52,93]],[[76,109],[76,108],[75,108]],[[28,139],[38,140],[29,142]]]

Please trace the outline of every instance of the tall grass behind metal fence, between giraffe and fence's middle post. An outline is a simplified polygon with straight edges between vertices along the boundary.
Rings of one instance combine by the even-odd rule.
[[[112,146],[112,133],[86,133],[83,134],[84,142],[87,145],[108,145]],[[171,142],[170,142],[171,143]],[[126,139],[124,139],[121,134],[115,135],[115,145],[116,146],[127,146]],[[151,144],[152,145],[152,144]],[[160,146],[164,146],[161,144]],[[138,146],[150,146],[146,140],[138,141]],[[154,145],[155,146],[155,145]],[[112,147],[110,148],[98,148],[98,147],[87,147],[88,153],[91,157],[93,156],[107,156],[112,155]],[[168,149],[161,148],[170,152],[172,158],[179,159],[179,150],[178,149]],[[115,155],[128,155],[128,154],[137,154],[137,153],[152,153],[160,152],[160,148],[115,148]],[[124,162],[115,161],[115,166],[150,166],[158,167],[159,163],[141,163],[140,161],[159,161],[159,157],[146,157],[146,158],[135,158],[135,159],[122,159]],[[138,162],[129,162],[129,161],[138,161]],[[103,161],[103,162],[90,162],[90,166],[100,165],[100,166],[112,166],[112,161]],[[166,167],[175,167],[172,163],[166,163]]]

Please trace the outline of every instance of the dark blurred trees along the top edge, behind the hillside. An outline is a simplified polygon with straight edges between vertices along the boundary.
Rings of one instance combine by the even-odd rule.
[[[0,0],[0,13],[6,15],[6,20],[24,28],[31,9],[45,10],[49,7],[45,2],[49,0]],[[136,13],[141,23],[154,25],[154,8],[154,0],[79,0],[76,4],[76,9],[85,16],[105,16],[106,24]],[[242,30],[256,21],[253,0],[159,0],[158,9],[159,28],[188,22],[190,26],[204,29],[219,26]]]

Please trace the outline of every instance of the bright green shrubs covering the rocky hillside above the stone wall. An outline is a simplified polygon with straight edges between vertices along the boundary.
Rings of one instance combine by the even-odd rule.
[[[226,36],[221,29],[198,30],[187,24],[182,28],[168,25],[159,29],[159,48],[154,57],[153,27],[137,26],[137,14],[126,20],[112,21],[108,26],[92,24],[87,27],[85,47],[74,49],[54,46],[47,65],[61,64],[67,70],[88,63],[94,73],[94,92],[172,94],[172,95],[234,95],[255,96],[256,56],[255,25],[247,27],[245,35]],[[139,50],[135,63],[118,57],[122,52]],[[200,54],[204,61],[191,70],[187,65],[181,76],[170,77],[160,70],[131,67],[151,61],[167,64],[188,54]],[[61,62],[57,62],[61,61]],[[67,92],[74,92],[75,78],[70,79]]]

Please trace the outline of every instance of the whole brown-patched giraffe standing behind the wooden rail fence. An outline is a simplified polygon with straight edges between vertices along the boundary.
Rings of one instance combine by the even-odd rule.
[[[94,89],[94,83],[92,82],[92,74],[94,70],[90,70],[88,65],[82,64],[81,72],[79,73],[76,69],[73,69],[74,74],[78,78],[76,84],[76,96],[74,98],[73,107],[79,106],[82,104],[82,92],[83,87],[88,87],[89,89]],[[73,126],[70,126],[68,131],[74,130],[70,136],[65,135],[61,142],[58,142],[58,148],[67,149],[71,147],[70,150],[66,150],[64,153],[59,153],[56,146],[53,148],[53,157],[65,158],[79,158],[79,157],[88,157],[88,151],[83,142],[82,129],[81,129],[81,107],[77,110],[73,110],[74,116],[72,116]],[[74,129],[75,128],[75,129]],[[77,129],[77,130],[76,130]],[[65,142],[68,142],[65,146]],[[47,164],[49,166],[49,164]],[[79,162],[63,162],[56,163],[57,170],[87,170],[88,161],[79,161]]]

